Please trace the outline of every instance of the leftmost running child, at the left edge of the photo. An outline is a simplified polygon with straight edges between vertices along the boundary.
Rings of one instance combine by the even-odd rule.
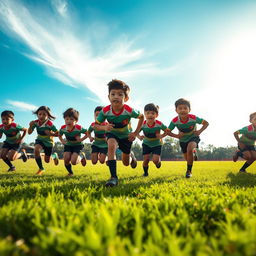
[[[15,166],[11,163],[18,158],[22,158],[24,162],[27,161],[26,151],[21,150],[21,143],[26,136],[27,129],[14,123],[14,113],[10,110],[5,110],[1,113],[2,124],[0,125],[0,138],[3,134],[6,140],[1,148],[0,156],[3,161],[9,166],[7,172],[15,171]],[[22,135],[20,132],[23,132]]]

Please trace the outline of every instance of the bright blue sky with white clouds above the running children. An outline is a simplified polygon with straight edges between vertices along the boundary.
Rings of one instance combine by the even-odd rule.
[[[118,78],[131,106],[158,104],[168,125],[185,97],[210,122],[205,144],[235,145],[233,132],[256,111],[255,11],[246,0],[1,0],[0,109],[28,126],[31,110],[47,105],[60,127],[74,107],[88,127]]]

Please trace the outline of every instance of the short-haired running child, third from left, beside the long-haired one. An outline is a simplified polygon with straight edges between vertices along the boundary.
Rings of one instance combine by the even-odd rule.
[[[59,139],[64,145],[64,164],[68,171],[68,176],[73,176],[72,165],[81,161],[83,166],[86,165],[85,154],[82,151],[84,145],[82,141],[87,138],[87,130],[78,125],[79,112],[73,108],[67,109],[63,113],[65,125],[60,128]],[[81,138],[81,134],[85,134]],[[65,135],[66,139],[62,136]]]

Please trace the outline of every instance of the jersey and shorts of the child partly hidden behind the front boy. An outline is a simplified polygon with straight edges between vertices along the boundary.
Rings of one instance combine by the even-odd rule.
[[[107,123],[102,123],[102,125],[106,125]],[[107,154],[108,153],[108,144],[106,140],[106,132],[105,131],[99,131],[95,129],[95,122],[93,122],[88,131],[94,132],[94,141],[91,145],[92,153],[102,153]]]

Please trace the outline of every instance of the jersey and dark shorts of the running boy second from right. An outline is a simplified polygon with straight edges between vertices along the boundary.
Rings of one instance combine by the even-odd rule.
[[[196,124],[203,124],[205,121],[202,118],[199,118],[195,115],[188,115],[188,120],[186,122],[183,122],[179,116],[175,117],[170,125],[169,129],[172,131],[175,127],[180,131],[184,133],[184,136],[182,136],[180,141],[180,147],[182,152],[185,154],[187,153],[187,147],[189,142],[195,142],[197,144],[200,142],[199,136],[195,135],[194,132],[196,131]]]

